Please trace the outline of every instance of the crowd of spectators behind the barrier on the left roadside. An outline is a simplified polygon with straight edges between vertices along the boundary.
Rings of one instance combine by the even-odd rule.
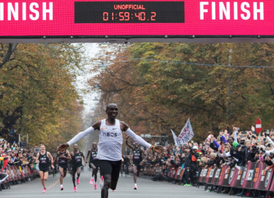
[[[0,157],[8,158],[7,166],[16,165],[21,168],[28,166],[33,172],[36,170],[35,158],[37,152],[33,148],[19,147],[16,142],[9,143],[4,139],[0,139]],[[5,177],[5,171],[0,174],[0,180]]]

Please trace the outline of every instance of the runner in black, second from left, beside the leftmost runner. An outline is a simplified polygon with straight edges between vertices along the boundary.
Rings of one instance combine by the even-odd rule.
[[[55,160],[58,160],[58,167],[60,172],[60,190],[63,191],[63,178],[65,178],[67,175],[68,160],[71,160],[69,151],[67,149],[58,151],[54,161]]]

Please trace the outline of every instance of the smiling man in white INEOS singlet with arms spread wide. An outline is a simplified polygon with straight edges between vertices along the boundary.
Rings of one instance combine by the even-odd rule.
[[[165,149],[162,146],[152,146],[136,135],[125,122],[116,119],[118,114],[118,106],[111,103],[107,106],[107,119],[94,123],[91,127],[78,133],[67,144],[60,144],[57,151],[67,149],[72,144],[76,143],[84,136],[93,133],[94,130],[99,130],[99,143],[97,158],[100,160],[100,170],[104,177],[104,185],[101,190],[101,198],[108,198],[109,188],[116,189],[121,168],[121,152],[123,144],[123,134],[125,131],[132,139],[140,145],[150,148],[155,152],[163,154]]]

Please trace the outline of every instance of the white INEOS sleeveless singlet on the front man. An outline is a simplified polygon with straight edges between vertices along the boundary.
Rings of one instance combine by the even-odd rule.
[[[115,119],[115,125],[106,125],[106,119],[101,121],[97,158],[100,160],[119,161],[122,159],[123,134],[120,121]]]

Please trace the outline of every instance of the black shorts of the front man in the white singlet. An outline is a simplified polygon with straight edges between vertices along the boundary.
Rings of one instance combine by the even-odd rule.
[[[99,160],[100,161],[100,170],[102,175],[110,174],[113,181],[118,181],[120,168],[122,160],[119,161],[109,161],[109,160]]]

